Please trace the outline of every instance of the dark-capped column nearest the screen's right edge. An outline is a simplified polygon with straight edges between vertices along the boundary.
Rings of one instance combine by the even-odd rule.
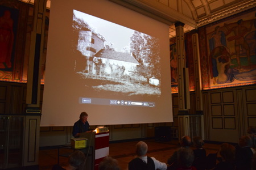
[[[184,45],[184,23],[175,23],[176,28],[176,48],[177,48],[177,69],[178,69],[178,100],[179,100],[179,139],[184,135],[189,135],[189,115],[190,108],[189,97],[189,79],[188,68],[185,62],[185,45]]]

